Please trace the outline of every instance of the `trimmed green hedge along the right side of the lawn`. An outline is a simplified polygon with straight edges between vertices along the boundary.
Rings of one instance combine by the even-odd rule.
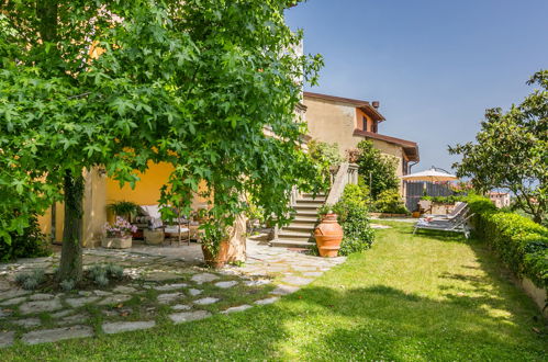
[[[485,240],[518,276],[527,276],[538,287],[548,287],[548,228],[532,219],[497,210],[483,196],[469,196],[476,214],[474,233]]]

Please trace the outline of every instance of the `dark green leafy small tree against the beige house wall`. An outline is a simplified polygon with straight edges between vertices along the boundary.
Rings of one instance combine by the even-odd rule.
[[[398,190],[400,180],[395,173],[398,160],[394,157],[382,154],[367,139],[358,144],[358,155],[354,157],[359,167],[359,174],[367,183],[371,183],[370,192],[373,200],[385,190]]]

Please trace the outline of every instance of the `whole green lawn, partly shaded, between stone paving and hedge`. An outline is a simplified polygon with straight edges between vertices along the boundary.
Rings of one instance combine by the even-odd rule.
[[[277,304],[1,350],[2,360],[546,361],[539,313],[483,245],[385,223],[373,248]]]

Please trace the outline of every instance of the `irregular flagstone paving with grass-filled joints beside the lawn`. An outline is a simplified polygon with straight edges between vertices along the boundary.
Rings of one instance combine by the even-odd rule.
[[[164,320],[181,324],[276,303],[345,258],[322,259],[253,239],[243,267],[200,267],[199,245],[87,249],[85,268],[114,263],[128,282],[105,289],[30,292],[14,284],[18,273],[53,273],[59,256],[0,264],[0,348],[143,330]],[[236,290],[236,291],[235,291]],[[167,308],[167,309],[166,309]],[[166,319],[167,318],[167,319]]]

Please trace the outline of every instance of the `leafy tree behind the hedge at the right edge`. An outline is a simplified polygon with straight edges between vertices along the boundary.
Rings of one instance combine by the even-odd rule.
[[[477,143],[449,151],[462,155],[454,165],[459,177],[470,177],[482,192],[511,191],[517,207],[543,223],[548,201],[548,70],[535,73],[528,84],[540,89],[506,113],[488,110]]]

